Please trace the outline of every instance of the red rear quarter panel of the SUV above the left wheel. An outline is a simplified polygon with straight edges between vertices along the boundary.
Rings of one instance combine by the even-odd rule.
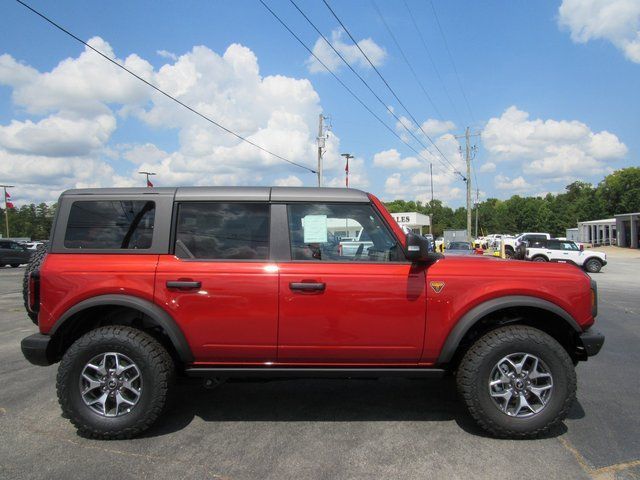
[[[153,302],[158,255],[49,254],[40,268],[41,333],[48,333],[75,304],[121,294]]]

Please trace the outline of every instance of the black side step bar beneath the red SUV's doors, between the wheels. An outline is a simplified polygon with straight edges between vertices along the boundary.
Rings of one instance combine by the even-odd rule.
[[[315,368],[315,367],[192,367],[185,373],[190,377],[235,378],[378,378],[410,377],[440,378],[447,371],[442,368]]]

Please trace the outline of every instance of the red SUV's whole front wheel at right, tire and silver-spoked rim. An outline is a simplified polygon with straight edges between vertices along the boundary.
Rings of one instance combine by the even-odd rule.
[[[500,438],[535,438],[567,415],[576,395],[571,357],[554,338],[527,326],[493,330],[467,351],[458,391],[471,416]]]

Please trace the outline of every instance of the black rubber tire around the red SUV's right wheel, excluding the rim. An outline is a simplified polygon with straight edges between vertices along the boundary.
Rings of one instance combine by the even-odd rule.
[[[501,358],[516,352],[537,356],[553,376],[549,403],[526,418],[503,413],[489,395],[492,368]],[[564,420],[576,396],[576,373],[567,351],[548,334],[523,325],[497,328],[479,338],[464,355],[456,376],[458,392],[471,416],[498,438],[538,438],[548,434]]]

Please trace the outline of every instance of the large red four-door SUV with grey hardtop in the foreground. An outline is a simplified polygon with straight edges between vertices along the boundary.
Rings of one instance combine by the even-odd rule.
[[[60,362],[62,410],[96,438],[147,429],[177,375],[448,372],[484,429],[531,437],[562,421],[575,363],[604,342],[579,269],[428,253],[359,190],[70,190],[58,205],[26,272],[40,333],[22,351]]]

